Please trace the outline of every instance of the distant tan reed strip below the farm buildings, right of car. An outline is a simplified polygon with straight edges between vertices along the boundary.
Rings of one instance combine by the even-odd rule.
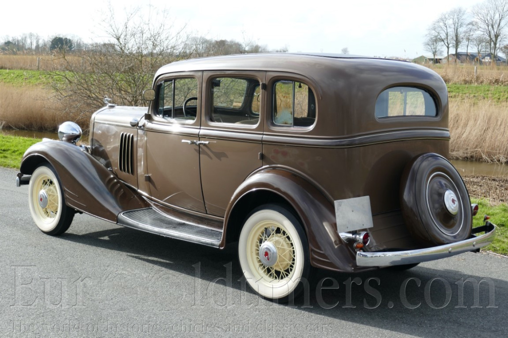
[[[476,75],[473,64],[435,64],[428,67],[449,84],[508,85],[508,67],[505,65],[477,65]]]

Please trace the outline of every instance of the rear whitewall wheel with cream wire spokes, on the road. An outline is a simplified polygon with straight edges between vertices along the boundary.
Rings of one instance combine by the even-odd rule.
[[[307,237],[300,221],[282,206],[261,206],[247,216],[238,257],[249,286],[264,298],[287,302],[308,283]]]

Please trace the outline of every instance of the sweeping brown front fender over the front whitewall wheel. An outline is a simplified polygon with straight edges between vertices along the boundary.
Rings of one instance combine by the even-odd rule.
[[[104,165],[70,143],[45,141],[31,146],[23,155],[20,172],[31,175],[43,162],[55,168],[71,208],[116,223],[120,212],[148,207]]]

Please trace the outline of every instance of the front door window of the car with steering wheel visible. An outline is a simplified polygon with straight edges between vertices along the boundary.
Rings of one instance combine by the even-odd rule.
[[[195,120],[197,108],[197,79],[173,79],[158,84],[158,116],[177,120]]]

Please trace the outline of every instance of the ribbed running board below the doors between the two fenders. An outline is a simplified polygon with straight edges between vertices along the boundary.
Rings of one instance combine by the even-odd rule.
[[[222,231],[167,217],[152,208],[125,211],[117,223],[165,237],[218,248]]]

